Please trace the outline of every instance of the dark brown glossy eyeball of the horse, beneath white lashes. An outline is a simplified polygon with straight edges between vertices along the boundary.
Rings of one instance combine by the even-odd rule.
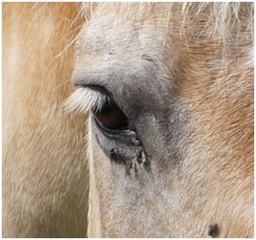
[[[92,113],[95,118],[99,120],[101,124],[109,128],[127,128],[128,119],[126,115],[121,111],[120,107],[116,105],[112,100],[106,101],[99,111],[92,109]]]

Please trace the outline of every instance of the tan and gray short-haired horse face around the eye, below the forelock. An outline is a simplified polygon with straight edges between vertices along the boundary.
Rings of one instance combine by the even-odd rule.
[[[100,230],[89,227],[89,236],[253,236],[253,156],[251,143],[245,146],[245,139],[252,142],[252,68],[240,64],[245,76],[226,81],[221,47],[212,49],[208,35],[201,42],[189,34],[189,42],[186,34],[180,39],[181,17],[166,37],[156,12],[140,21],[104,9],[77,40],[74,84],[103,86],[136,132],[107,135],[91,115],[90,194],[99,195]],[[172,13],[181,16],[178,10]],[[194,23],[194,33],[208,16],[198,28]],[[236,73],[231,63],[226,68]],[[231,87],[219,91],[217,76]],[[250,87],[237,108],[230,91],[245,83]],[[230,109],[247,111],[248,131],[233,124]]]

